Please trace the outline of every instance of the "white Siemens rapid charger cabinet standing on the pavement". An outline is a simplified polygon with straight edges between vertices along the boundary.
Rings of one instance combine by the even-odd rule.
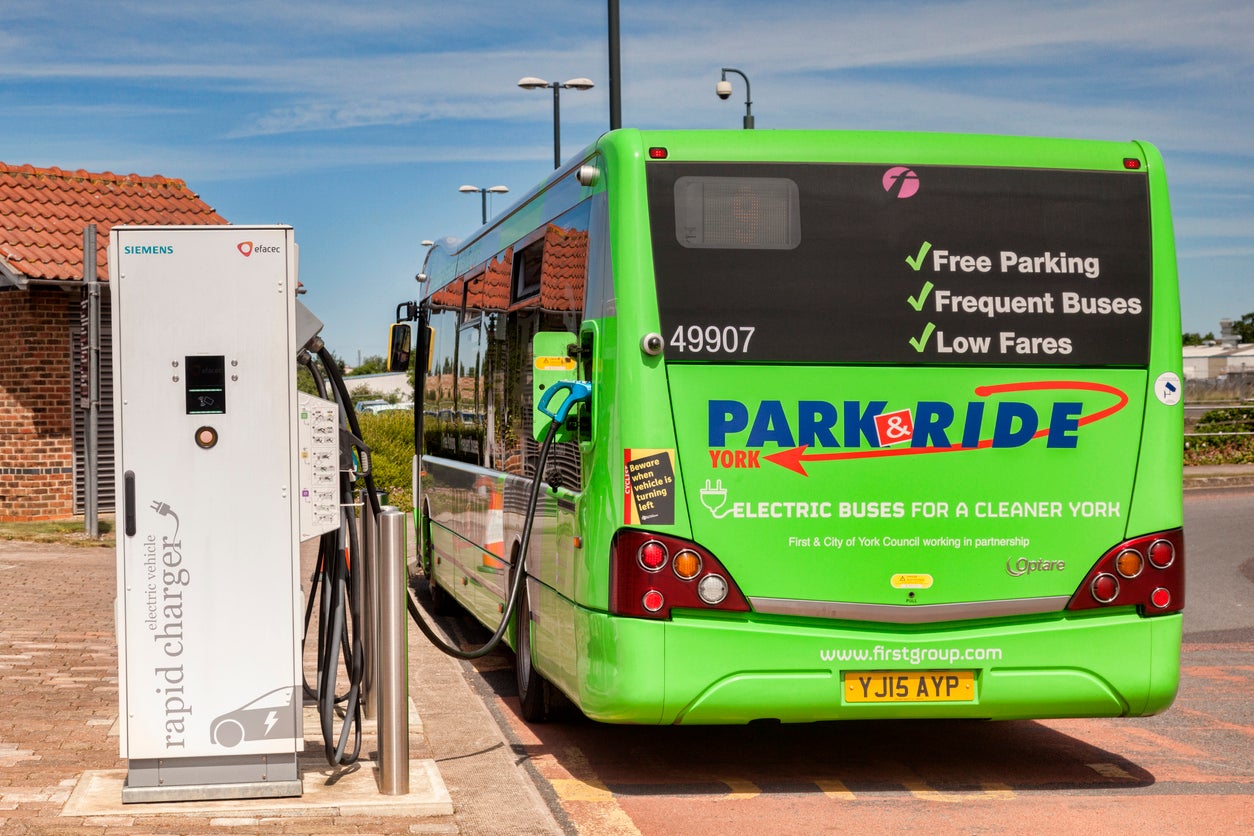
[[[302,444],[292,229],[109,244],[123,801],[300,795],[301,516],[339,516],[334,461],[301,505],[301,452],[330,459],[335,420]]]

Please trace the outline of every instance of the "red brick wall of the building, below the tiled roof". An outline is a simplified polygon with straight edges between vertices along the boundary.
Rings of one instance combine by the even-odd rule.
[[[70,330],[78,293],[0,291],[0,521],[74,514]]]

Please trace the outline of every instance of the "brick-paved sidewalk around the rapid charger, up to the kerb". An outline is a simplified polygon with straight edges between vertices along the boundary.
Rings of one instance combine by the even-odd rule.
[[[115,728],[114,565],[112,548],[0,540],[0,833],[561,832],[461,667],[431,657],[413,629],[411,657],[424,659],[421,668],[411,662],[414,701],[424,714],[458,708],[411,733],[410,757],[431,760],[448,775],[454,815],[344,815],[335,806],[255,813],[248,801],[201,815],[152,815],[144,805],[119,815],[61,815],[84,773],[125,770]],[[307,755],[321,752],[317,734],[306,728]],[[367,738],[366,757],[372,748]]]

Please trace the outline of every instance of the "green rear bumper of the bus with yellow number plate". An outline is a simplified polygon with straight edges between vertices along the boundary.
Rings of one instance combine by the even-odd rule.
[[[609,643],[586,645],[579,703],[608,722],[1131,717],[1165,709],[1179,686],[1179,614],[917,628],[586,617],[588,638]],[[951,674],[971,686],[940,699]]]

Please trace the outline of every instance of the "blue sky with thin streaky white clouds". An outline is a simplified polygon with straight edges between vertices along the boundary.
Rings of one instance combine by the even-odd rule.
[[[1186,331],[1254,311],[1254,4],[621,0],[623,125],[1147,139],[1171,185]],[[382,353],[461,184],[552,169],[608,128],[603,0],[4,0],[0,159],[166,174],[234,223],[290,223],[306,305]]]

